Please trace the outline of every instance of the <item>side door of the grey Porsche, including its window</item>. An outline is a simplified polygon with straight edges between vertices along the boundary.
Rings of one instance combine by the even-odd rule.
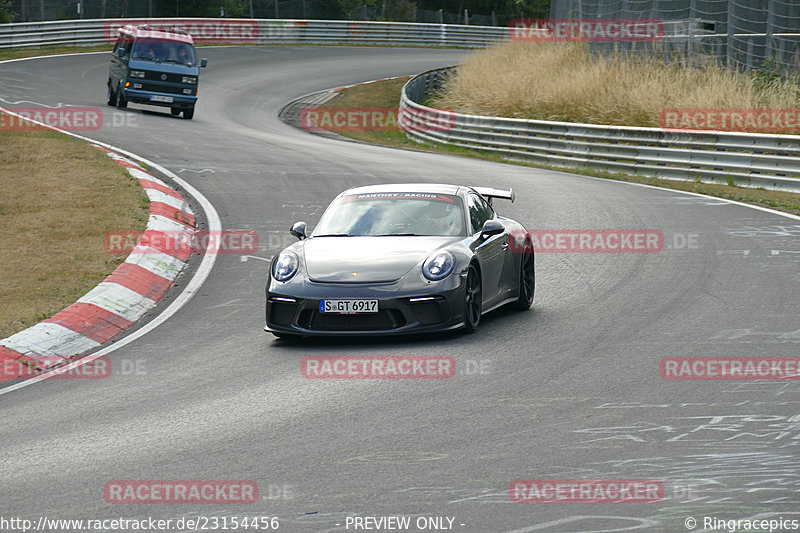
[[[480,238],[484,222],[495,218],[494,210],[486,200],[475,193],[467,194],[467,210],[470,225],[475,236],[474,250],[481,265],[481,290],[483,307],[493,305],[501,296],[503,288],[503,271],[508,250],[508,232],[493,235],[488,239]]]

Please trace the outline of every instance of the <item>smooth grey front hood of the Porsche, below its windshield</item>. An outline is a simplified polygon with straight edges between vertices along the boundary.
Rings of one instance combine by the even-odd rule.
[[[463,237],[313,237],[302,242],[311,281],[391,282],[435,250]]]

